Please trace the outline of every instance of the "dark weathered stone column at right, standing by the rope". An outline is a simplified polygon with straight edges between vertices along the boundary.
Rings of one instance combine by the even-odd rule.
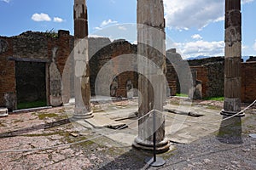
[[[224,41],[224,110],[221,114],[232,116],[241,111],[241,0],[225,0]]]

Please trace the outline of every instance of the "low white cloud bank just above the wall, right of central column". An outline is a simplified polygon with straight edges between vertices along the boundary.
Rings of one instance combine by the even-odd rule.
[[[188,57],[196,57],[198,55],[206,56],[223,56],[224,55],[224,41],[207,42],[198,40],[196,42],[177,42],[175,43],[177,51],[183,55],[183,59]]]

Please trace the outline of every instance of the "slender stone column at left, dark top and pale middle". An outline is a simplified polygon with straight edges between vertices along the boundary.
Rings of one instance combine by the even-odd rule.
[[[90,107],[90,68],[88,55],[88,20],[85,0],[74,0],[74,94],[75,113],[73,118],[92,117]]]

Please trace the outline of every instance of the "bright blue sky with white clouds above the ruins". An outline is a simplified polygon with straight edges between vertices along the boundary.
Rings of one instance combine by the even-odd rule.
[[[166,36],[184,58],[224,55],[224,0],[164,3]],[[256,0],[241,3],[242,55],[256,55]],[[91,37],[108,35],[136,41],[137,0],[87,0],[87,6]],[[73,0],[0,0],[0,14],[1,36],[52,29],[73,34]],[[112,30],[111,35],[108,30]]]

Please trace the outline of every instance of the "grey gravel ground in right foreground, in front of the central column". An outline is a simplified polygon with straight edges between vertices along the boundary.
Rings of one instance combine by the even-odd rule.
[[[127,152],[101,167],[93,169],[256,169],[256,139],[242,137],[242,144],[224,144],[216,137],[206,137],[192,144],[175,144],[176,150],[161,155],[163,167],[148,167],[148,156],[137,150]],[[232,139],[233,142],[240,139]],[[136,154],[134,154],[134,152]],[[99,156],[99,155],[98,155]],[[167,158],[168,157],[168,158]]]

